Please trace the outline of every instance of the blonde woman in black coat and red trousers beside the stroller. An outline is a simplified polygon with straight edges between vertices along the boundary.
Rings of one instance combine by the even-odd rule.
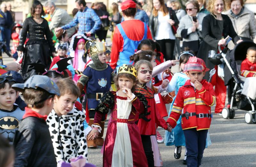
[[[237,36],[231,20],[227,15],[221,14],[225,9],[225,1],[223,0],[209,0],[208,10],[211,14],[203,19],[202,36],[203,43],[201,44],[197,57],[202,58],[207,68],[213,69],[215,67],[216,73],[212,77],[212,85],[215,85],[215,95],[217,97],[215,114],[220,113],[225,107],[226,87],[224,81],[218,77],[217,66],[213,65],[208,59],[209,50],[218,52],[218,46],[226,46],[225,38],[229,35],[234,43],[239,43],[241,40]],[[210,77],[209,72],[206,72],[205,79]]]

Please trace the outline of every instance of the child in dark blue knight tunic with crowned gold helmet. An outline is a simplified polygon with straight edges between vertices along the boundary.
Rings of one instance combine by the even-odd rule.
[[[113,69],[106,63],[106,47],[103,42],[87,41],[90,42],[89,52],[93,63],[88,65],[77,82],[77,86],[82,92],[86,86],[87,96],[87,109],[86,115],[89,115],[89,125],[91,126],[94,121],[95,108],[100,103],[100,98],[109,91],[111,81],[113,81],[114,72]],[[88,43],[86,44],[88,45]],[[85,46],[87,46],[85,44]],[[85,47],[86,49],[86,47]],[[88,114],[89,113],[89,114]],[[88,119],[87,119],[88,120]],[[102,128],[99,137],[94,140],[87,140],[88,148],[96,148],[97,145],[103,145],[103,132],[105,117],[100,122]]]

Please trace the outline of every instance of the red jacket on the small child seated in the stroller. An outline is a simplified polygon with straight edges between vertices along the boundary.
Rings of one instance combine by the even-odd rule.
[[[247,58],[241,64],[241,75],[253,77],[256,74],[256,63],[251,63]]]

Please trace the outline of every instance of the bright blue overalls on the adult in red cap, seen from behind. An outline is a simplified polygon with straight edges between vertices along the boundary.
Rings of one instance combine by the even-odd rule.
[[[144,23],[144,22],[143,22]],[[147,24],[144,23],[144,36],[140,41],[133,41],[130,38],[127,37],[127,35],[124,32],[124,29],[120,24],[116,25],[118,27],[118,30],[120,32],[120,34],[122,35],[123,39],[124,39],[124,47],[123,47],[123,51],[119,53],[119,58],[117,61],[117,66],[116,66],[116,70],[118,71],[118,68],[120,66],[122,66],[123,64],[127,64],[127,65],[132,65],[133,61],[130,62],[130,56],[132,56],[134,54],[134,50],[137,49],[140,41],[147,39],[147,34],[148,34],[148,27]]]

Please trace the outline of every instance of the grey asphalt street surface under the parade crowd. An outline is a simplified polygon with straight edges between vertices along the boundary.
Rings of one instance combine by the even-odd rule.
[[[4,64],[12,62],[12,58],[3,54]],[[178,66],[173,69],[177,71]],[[167,105],[169,110],[169,105]],[[214,107],[212,108],[214,109]],[[234,119],[223,119],[222,116],[213,115],[212,125],[209,130],[212,145],[204,151],[202,166],[256,166],[256,125],[248,125],[244,121],[245,111],[237,110]],[[167,119],[167,117],[165,117]],[[107,127],[107,122],[105,123]],[[164,130],[158,128],[164,135]],[[105,129],[106,134],[106,129]],[[105,136],[105,135],[104,135]],[[165,146],[158,144],[164,166],[185,166],[182,164],[184,158],[184,149],[179,160],[173,156],[174,146]],[[88,161],[102,166],[101,147],[97,149],[88,149]]]

